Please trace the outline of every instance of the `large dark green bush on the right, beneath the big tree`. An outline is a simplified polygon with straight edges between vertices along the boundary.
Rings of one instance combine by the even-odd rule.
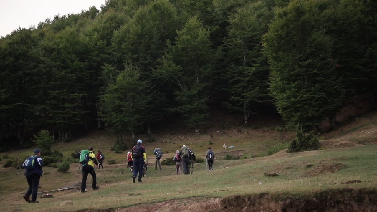
[[[319,149],[319,140],[313,132],[304,134],[300,129],[296,132],[296,138],[292,140],[287,152],[303,152],[317,149]]]

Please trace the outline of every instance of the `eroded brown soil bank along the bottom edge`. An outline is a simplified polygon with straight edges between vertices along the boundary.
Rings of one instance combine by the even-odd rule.
[[[375,212],[377,190],[341,189],[293,195],[253,194],[224,198],[187,198],[91,212]],[[86,211],[86,210],[85,210]],[[84,212],[84,210],[80,210]]]

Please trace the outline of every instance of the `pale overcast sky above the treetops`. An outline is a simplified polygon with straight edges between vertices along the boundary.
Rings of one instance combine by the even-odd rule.
[[[0,36],[10,34],[18,26],[38,26],[55,15],[79,13],[95,6],[100,10],[105,0],[0,0]]]

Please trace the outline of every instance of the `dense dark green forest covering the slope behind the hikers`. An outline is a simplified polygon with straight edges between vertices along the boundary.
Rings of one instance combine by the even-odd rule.
[[[213,107],[316,131],[377,95],[375,0],[106,0],[0,39],[0,151],[106,127],[131,140]]]

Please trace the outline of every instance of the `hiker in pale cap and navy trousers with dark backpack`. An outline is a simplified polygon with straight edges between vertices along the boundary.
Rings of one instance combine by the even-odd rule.
[[[133,160],[133,183],[136,182],[135,178],[138,174],[138,183],[143,183],[143,181],[141,181],[141,178],[143,177],[143,168],[144,164],[147,164],[147,154],[144,146],[141,145],[141,143],[143,143],[143,141],[139,139],[138,144],[132,148],[131,157]]]

